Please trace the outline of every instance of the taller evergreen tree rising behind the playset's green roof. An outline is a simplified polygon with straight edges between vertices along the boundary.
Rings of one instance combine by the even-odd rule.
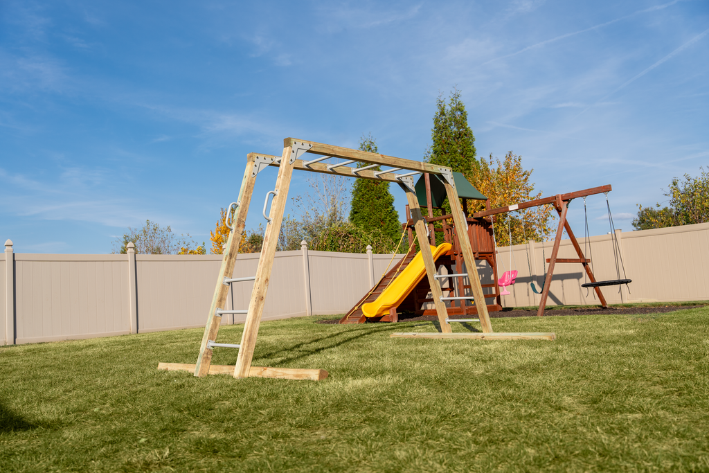
[[[451,167],[472,181],[478,167],[475,137],[468,126],[468,113],[460,99],[460,91],[453,89],[448,104],[443,94],[440,94],[436,106],[431,130],[432,144],[424,160],[434,165]]]

